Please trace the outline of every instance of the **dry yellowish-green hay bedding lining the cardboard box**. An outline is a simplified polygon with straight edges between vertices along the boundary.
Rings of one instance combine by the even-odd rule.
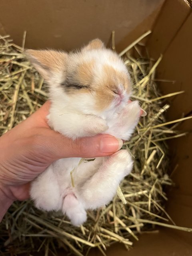
[[[57,248],[64,248],[82,256],[94,247],[105,255],[110,244],[120,242],[128,249],[133,240],[138,240],[138,234],[158,232],[158,226],[192,232],[190,228],[176,226],[164,210],[167,200],[164,187],[172,185],[166,173],[169,160],[165,141],[186,135],[175,130],[178,122],[186,118],[172,122],[165,120],[164,114],[170,107],[165,99],[182,92],[160,94],[155,69],[162,56],[155,62],[140,54],[140,48],[144,46],[139,42],[149,33],[120,53],[132,76],[132,99],[138,99],[148,113],[140,119],[131,140],[124,142],[124,148],[134,157],[132,173],[123,180],[112,202],[104,208],[88,211],[88,220],[80,227],[72,226],[60,213],[36,209],[30,200],[14,202],[0,225],[1,255],[32,255],[33,252],[57,255]],[[112,48],[115,49],[114,32]],[[130,54],[130,48],[140,54],[138,59]],[[46,99],[44,81],[25,59],[23,47],[16,46],[9,36],[1,36],[0,134],[25,120]],[[167,224],[168,221],[171,224]],[[131,241],[130,237],[133,238]]]

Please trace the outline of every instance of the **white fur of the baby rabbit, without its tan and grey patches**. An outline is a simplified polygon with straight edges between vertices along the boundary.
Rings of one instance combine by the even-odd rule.
[[[96,63],[94,80],[101,76],[102,65],[112,65],[128,75],[122,60],[110,50],[82,50],[68,57],[68,69],[94,58]],[[106,133],[128,140],[139,120],[140,106],[137,101],[127,103],[129,95],[120,84],[124,96],[121,104],[98,112],[95,110],[93,94],[68,95],[57,86],[63,75],[52,74],[56,83],[50,87],[52,102],[49,124],[54,130],[72,139]],[[129,75],[128,75],[129,76]],[[57,78],[56,78],[57,77]],[[86,210],[104,206],[112,200],[122,179],[130,173],[133,161],[127,150],[120,150],[108,157],[82,162],[80,158],[60,159],[52,163],[34,182],[30,195],[36,207],[43,210],[62,210],[74,225],[86,221]],[[76,167],[76,168],[75,168]],[[73,172],[74,185],[70,172]]]

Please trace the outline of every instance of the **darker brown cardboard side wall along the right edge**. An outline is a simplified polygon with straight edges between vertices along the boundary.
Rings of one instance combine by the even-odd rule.
[[[190,9],[189,9],[190,10]],[[169,19],[169,18],[168,18]],[[185,90],[174,98],[168,99],[171,108],[167,112],[167,118],[174,120],[184,116],[192,115],[192,12],[178,30],[176,36],[164,52],[162,62],[157,68],[158,78],[174,80],[175,83],[161,82],[160,88],[163,93]],[[166,35],[166,30],[165,30]],[[165,38],[162,34],[162,38]],[[154,48],[149,48],[153,56]],[[157,52],[159,48],[157,46]],[[156,54],[156,53],[155,53]],[[192,120],[187,120],[180,126],[179,130],[192,131]],[[167,210],[177,225],[192,227],[192,134],[186,137],[171,140],[169,142],[172,163],[170,169],[176,166],[172,178],[176,184],[169,193]],[[192,234],[177,232],[178,235],[189,244],[192,244]]]

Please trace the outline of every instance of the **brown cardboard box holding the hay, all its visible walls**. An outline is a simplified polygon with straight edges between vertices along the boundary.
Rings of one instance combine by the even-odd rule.
[[[27,30],[26,48],[79,47],[92,38],[110,42],[116,31],[116,49],[122,50],[149,29],[146,45],[150,56],[163,60],[158,78],[163,93],[185,90],[172,99],[167,120],[192,114],[192,9],[191,0],[1,0],[0,34],[10,34],[21,45]],[[179,129],[190,131],[192,120]],[[192,227],[192,134],[170,140],[170,170],[176,187],[168,192],[166,210],[179,226]],[[107,255],[191,256],[192,234],[161,228],[158,234],[144,234],[127,252],[120,244],[111,246]],[[61,252],[60,255],[65,255]],[[100,255],[98,251],[91,255]]]

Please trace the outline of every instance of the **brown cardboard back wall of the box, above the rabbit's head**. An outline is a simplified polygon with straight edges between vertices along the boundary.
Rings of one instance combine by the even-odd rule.
[[[21,45],[27,30],[26,48],[81,46],[100,37],[108,43],[112,30],[118,44],[149,16],[138,35],[152,28],[164,0],[1,0],[0,33],[11,34]],[[129,37],[126,44],[136,39]]]

